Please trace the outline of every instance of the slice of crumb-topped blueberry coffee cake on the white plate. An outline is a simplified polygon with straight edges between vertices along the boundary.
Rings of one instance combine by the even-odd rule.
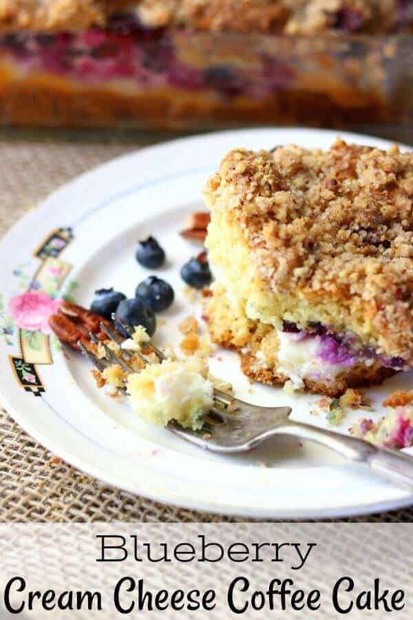
[[[268,384],[336,396],[413,369],[413,154],[231,151],[205,190],[211,336]]]

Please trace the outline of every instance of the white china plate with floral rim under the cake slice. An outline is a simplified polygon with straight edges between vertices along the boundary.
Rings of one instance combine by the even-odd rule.
[[[59,350],[55,339],[40,331],[17,329],[8,316],[10,298],[27,291],[32,280],[37,291],[71,294],[84,305],[100,287],[114,286],[133,296],[136,284],[147,276],[134,260],[136,241],[153,234],[168,256],[167,267],[157,273],[171,281],[177,293],[156,339],[176,342],[176,324],[191,311],[181,292],[179,269],[199,251],[182,240],[178,230],[187,214],[202,209],[202,187],[220,158],[239,146],[259,149],[294,142],[326,148],[335,136],[336,132],[321,130],[264,129],[172,141],[81,176],[21,220],[0,246],[0,391],[10,415],[65,461],[160,502],[218,513],[300,519],[412,504],[413,496],[406,490],[314,444],[299,446],[296,441],[278,439],[237,457],[194,448],[137,419],[126,404],[96,389],[79,355]],[[341,136],[388,146],[368,136]],[[24,299],[28,301],[27,296]],[[41,327],[50,300],[43,298],[45,307],[38,307],[39,299],[36,296],[29,311],[27,307],[14,310],[21,325]],[[309,414],[313,396],[290,398],[282,389],[259,385],[251,393],[233,353],[215,355],[212,369],[231,381],[235,393],[246,400],[291,404],[298,419],[325,423],[321,416]],[[406,387],[408,378],[396,377],[370,391],[375,415],[384,395],[403,387],[403,382]],[[360,415],[366,413],[349,415],[339,430],[347,432]]]

